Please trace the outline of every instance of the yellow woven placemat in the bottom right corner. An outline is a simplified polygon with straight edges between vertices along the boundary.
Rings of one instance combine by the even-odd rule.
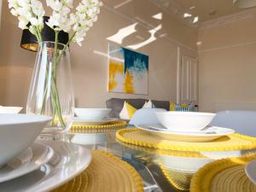
[[[217,160],[203,166],[192,177],[190,192],[255,192],[247,178],[246,164],[256,157]]]

